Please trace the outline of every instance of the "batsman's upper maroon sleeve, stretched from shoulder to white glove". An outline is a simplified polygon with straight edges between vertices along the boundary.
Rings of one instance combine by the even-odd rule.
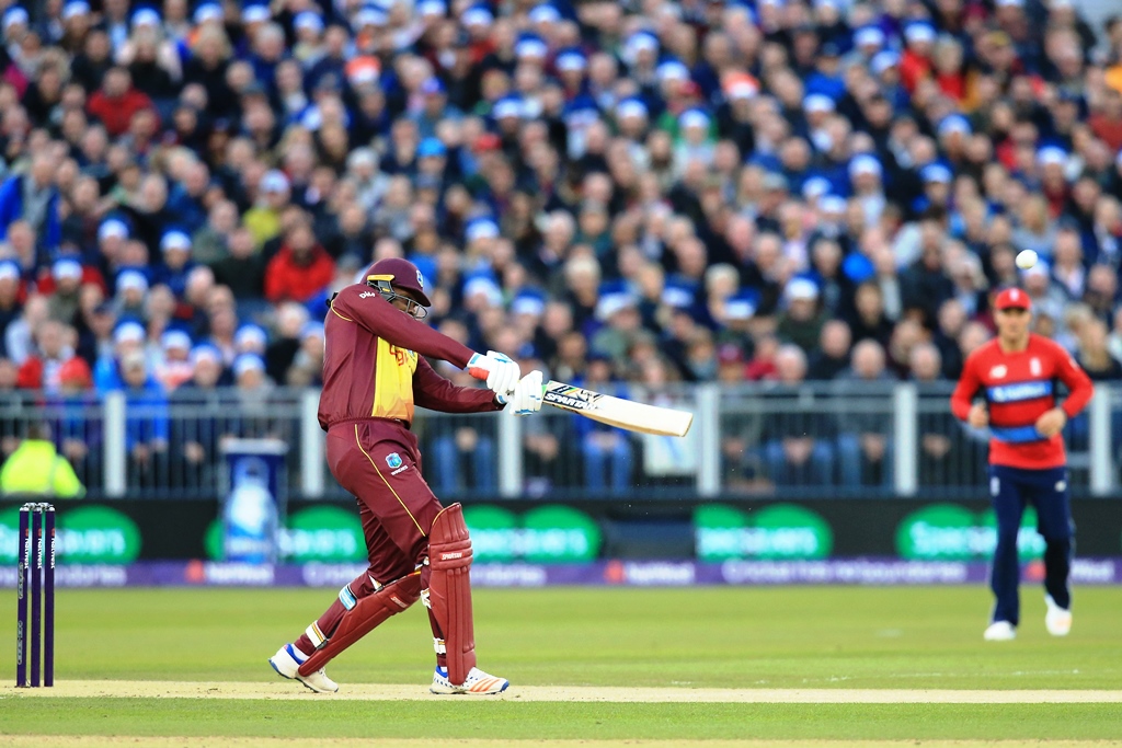
[[[347,286],[339,292],[331,302],[331,311],[392,345],[454,363],[461,369],[468,366],[472,354],[467,345],[417,322],[364,285]]]

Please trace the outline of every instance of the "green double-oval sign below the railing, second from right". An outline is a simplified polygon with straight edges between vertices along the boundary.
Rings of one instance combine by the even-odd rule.
[[[825,558],[834,533],[820,515],[793,504],[742,511],[723,504],[693,512],[693,539],[701,561]]]

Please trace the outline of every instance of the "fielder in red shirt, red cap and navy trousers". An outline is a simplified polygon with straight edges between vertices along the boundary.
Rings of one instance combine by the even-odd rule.
[[[1093,386],[1086,372],[1057,343],[1029,332],[1031,302],[1020,288],[994,301],[997,338],[966,359],[950,398],[955,416],[975,428],[990,427],[990,497],[997,515],[997,547],[990,587],[996,604],[984,638],[1017,637],[1020,622],[1020,565],[1017,534],[1029,504],[1045,550],[1045,626],[1052,636],[1072,629],[1074,526],[1063,430],[1086,407]],[[1056,404],[1056,382],[1068,388]],[[975,403],[975,396],[981,400]]]

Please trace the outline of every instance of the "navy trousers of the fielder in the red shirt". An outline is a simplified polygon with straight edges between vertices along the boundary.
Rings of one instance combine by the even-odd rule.
[[[1017,556],[1017,534],[1028,506],[1036,507],[1037,530],[1045,538],[1045,590],[1060,608],[1072,607],[1067,578],[1072,570],[1072,506],[1067,469],[1024,470],[990,465],[990,497],[997,514],[997,547],[993,552],[990,587],[997,601],[994,621],[1020,621],[1018,585],[1021,566]]]

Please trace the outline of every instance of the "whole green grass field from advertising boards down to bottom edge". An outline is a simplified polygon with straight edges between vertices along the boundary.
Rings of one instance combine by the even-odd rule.
[[[330,590],[61,590],[57,692],[82,685],[75,681],[120,681],[130,682],[131,690],[120,692],[129,695],[35,698],[17,692],[10,687],[15,647],[4,646],[0,674],[8,685],[0,689],[0,736],[27,736],[30,742],[19,745],[54,736],[35,745],[82,746],[155,736],[239,746],[295,745],[297,739],[301,745],[309,739],[315,739],[312,745],[331,745],[330,739],[348,745],[348,738],[411,746],[466,739],[475,742],[465,745],[477,746],[720,740],[721,746],[793,741],[788,745],[838,747],[843,744],[835,741],[840,740],[856,741],[846,746],[904,740],[1089,746],[1122,740],[1118,698],[1100,703],[925,703],[919,693],[1122,691],[1118,588],[1077,590],[1075,626],[1065,639],[1046,634],[1041,594],[1027,588],[1024,620],[1019,638],[1010,643],[982,641],[991,602],[981,587],[479,590],[480,666],[512,682],[509,694],[500,699],[426,693],[431,635],[420,606],[330,665],[329,673],[344,690],[339,696],[305,693],[298,684],[280,681],[265,661],[331,597]],[[11,621],[4,626],[11,631],[15,618],[9,590],[0,598],[0,622]],[[158,693],[156,682],[171,681],[196,682],[192,687],[200,695]],[[221,698],[226,684],[248,689],[249,695]],[[341,698],[348,685],[352,695],[375,687],[366,684],[398,684],[397,692],[415,686],[416,701]],[[600,686],[644,689],[636,693],[677,689],[666,693],[679,694],[696,689],[826,690],[826,696],[824,703],[576,702],[519,700],[519,686],[573,686],[567,693],[592,699]],[[254,689],[265,695],[252,698]],[[914,703],[825,703],[850,701],[871,689],[891,690]],[[991,695],[1002,700],[1001,693]],[[984,693],[975,693],[974,700],[978,696],[986,700]]]

